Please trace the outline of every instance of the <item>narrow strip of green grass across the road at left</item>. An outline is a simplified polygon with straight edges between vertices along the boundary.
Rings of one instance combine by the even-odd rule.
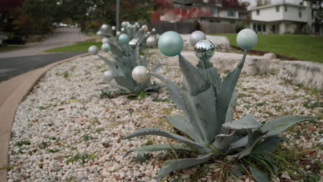
[[[95,40],[90,39],[88,41],[84,41],[81,43],[77,43],[75,45],[66,45],[59,48],[53,48],[50,50],[45,50],[45,52],[71,52],[71,51],[88,51],[88,48],[91,45],[97,45],[98,48],[101,48],[101,42],[95,42]]]

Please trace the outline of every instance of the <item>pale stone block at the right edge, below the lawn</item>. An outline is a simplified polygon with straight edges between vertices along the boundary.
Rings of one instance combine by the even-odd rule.
[[[280,76],[295,84],[323,90],[323,64],[309,61],[282,61]]]

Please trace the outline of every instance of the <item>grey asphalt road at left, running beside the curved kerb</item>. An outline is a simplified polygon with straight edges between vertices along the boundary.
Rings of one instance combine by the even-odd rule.
[[[83,54],[84,52],[45,53],[43,51],[84,40],[86,40],[86,36],[80,32],[79,28],[57,28],[55,33],[45,41],[28,43],[26,48],[0,53],[0,81],[62,59]]]

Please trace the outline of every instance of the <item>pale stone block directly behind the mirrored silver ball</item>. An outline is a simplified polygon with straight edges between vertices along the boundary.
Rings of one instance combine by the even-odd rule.
[[[183,50],[193,51],[194,47],[192,45],[190,45],[190,41],[189,41],[190,34],[181,34],[181,36],[183,37],[183,40],[184,40]],[[228,39],[226,37],[207,35],[206,39],[211,41],[215,46],[215,50],[217,50],[219,52],[229,52],[231,50],[230,42],[228,41]]]

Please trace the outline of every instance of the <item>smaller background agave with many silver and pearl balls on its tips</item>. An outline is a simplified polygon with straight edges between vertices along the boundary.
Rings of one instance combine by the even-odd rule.
[[[122,25],[124,26],[125,23],[126,22],[123,22]],[[129,26],[130,28],[132,27],[127,23],[127,30]],[[109,28],[110,27],[108,26],[107,29]],[[106,30],[106,28],[101,29],[103,29],[100,30],[102,31],[101,34],[105,35],[104,30]],[[147,57],[149,48],[146,50],[144,57],[141,57],[139,54],[139,43],[141,43],[142,40],[143,39],[133,39],[132,41],[130,41],[128,34],[120,34],[117,41],[113,41],[112,39],[105,37],[102,40],[103,44],[101,46],[101,50],[103,50],[104,52],[111,52],[111,56],[114,61],[111,61],[106,57],[102,57],[100,54],[98,54],[99,49],[95,45],[90,46],[88,52],[92,55],[97,55],[98,57],[100,57],[110,67],[110,70],[104,72],[104,82],[102,83],[107,83],[116,88],[119,88],[119,90],[111,90],[110,88],[101,90],[104,95],[110,95],[112,93],[138,94],[140,92],[157,91],[159,88],[161,88],[161,85],[157,83],[151,83],[150,79],[144,81],[143,83],[138,83],[132,77],[132,72],[135,67],[137,67],[138,65],[143,65],[146,68],[148,66]],[[148,39],[146,39],[146,44],[148,45],[148,47],[154,46],[155,43],[155,38],[149,37]],[[157,65],[151,70],[151,72],[156,72],[160,67],[161,65]],[[112,79],[115,79],[116,83],[112,83]]]

